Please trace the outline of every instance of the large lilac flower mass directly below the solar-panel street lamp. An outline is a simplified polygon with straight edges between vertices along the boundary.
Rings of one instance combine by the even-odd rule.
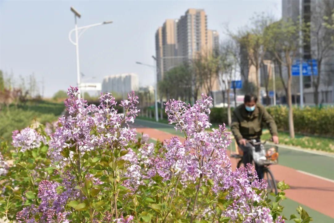
[[[65,147],[75,146],[79,151],[96,147],[113,150],[116,146],[126,147],[135,139],[136,130],[128,126],[139,112],[136,107],[138,97],[134,92],[128,94],[128,99],[120,104],[125,114],[118,113],[114,108],[117,102],[111,93],[101,95],[99,106],[87,106],[85,100],[77,98],[77,87],[68,88],[67,94],[69,97],[65,100],[65,106],[69,116],[59,118],[59,127],[50,135],[49,156],[52,160],[62,159],[59,154]]]

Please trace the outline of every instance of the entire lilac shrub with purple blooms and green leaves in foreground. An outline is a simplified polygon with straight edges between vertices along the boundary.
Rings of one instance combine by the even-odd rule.
[[[26,128],[13,132],[15,150],[2,143],[0,204],[8,222],[285,221],[280,202],[288,186],[280,182],[271,202],[267,183],[250,165],[232,171],[225,126],[206,131],[211,97],[202,95],[193,106],[168,101],[169,122],[185,142],[173,137],[148,144],[147,135],[138,138],[129,126],[139,112],[134,92],[120,103],[124,113],[110,93],[99,106],[77,94],[69,88],[69,115],[53,133]],[[298,211],[296,221],[311,220]]]

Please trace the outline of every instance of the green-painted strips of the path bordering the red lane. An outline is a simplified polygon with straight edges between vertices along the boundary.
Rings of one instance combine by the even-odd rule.
[[[152,129],[156,129],[156,130],[159,130],[165,133],[184,137],[183,133],[175,131],[172,125],[156,123],[156,122],[141,120],[141,119],[136,119],[135,125],[152,128]],[[233,145],[230,148],[230,150],[234,151]],[[287,149],[283,147],[279,147],[279,154],[280,154],[279,164],[281,166],[294,169],[294,170],[291,170],[291,169],[286,168],[284,171],[287,171],[287,174],[289,172],[297,170],[297,171],[300,171],[300,175],[307,174],[309,176],[314,177],[315,181],[319,179],[323,179],[326,181],[330,181],[331,183],[334,183],[334,168],[333,168],[334,156],[332,156],[331,154],[326,156],[326,155],[317,154],[313,152],[308,152],[308,151],[303,151],[303,150],[292,150],[292,149]],[[276,170],[276,167],[274,167],[273,169]],[[282,173],[280,173],[280,175],[282,176]],[[298,179],[298,180],[303,180],[303,179]],[[330,192],[329,194],[333,194],[334,186],[332,187],[332,185],[334,184],[330,184],[330,183],[328,184],[328,182],[326,181],[325,181],[325,183],[327,183],[326,187],[314,188],[315,191],[320,190],[321,192],[324,192],[325,190],[325,191]],[[310,189],[308,185],[305,185],[305,188]],[[302,191],[305,188],[302,188],[299,186],[295,188],[292,187],[290,190]],[[305,194],[301,196],[308,197],[310,196],[310,194]],[[329,195],[329,196],[332,196],[332,195]],[[332,201],[334,202],[334,197],[332,197]],[[298,207],[298,205],[302,205],[308,211],[309,215],[313,217],[314,222],[334,223],[334,218],[327,216],[323,213],[320,213],[319,211],[316,211],[308,207],[307,205],[296,202],[292,199],[288,198],[287,200],[283,201],[283,205],[285,206],[285,209],[283,211],[285,216],[290,216],[291,214],[296,213],[295,211],[296,207]],[[328,203],[324,205],[328,205],[330,207],[330,206],[333,206],[333,203],[332,204]]]

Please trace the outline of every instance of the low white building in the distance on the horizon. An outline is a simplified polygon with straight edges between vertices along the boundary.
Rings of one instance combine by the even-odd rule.
[[[120,73],[106,76],[102,82],[103,92],[115,92],[126,95],[132,90],[138,90],[139,80],[136,73]]]

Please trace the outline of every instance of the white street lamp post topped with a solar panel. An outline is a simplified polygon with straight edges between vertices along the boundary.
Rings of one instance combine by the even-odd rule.
[[[92,24],[92,25],[78,27],[77,23],[76,23],[76,18],[80,18],[81,14],[77,10],[75,10],[73,7],[71,7],[70,9],[74,13],[74,29],[72,29],[71,31],[69,31],[69,33],[68,33],[68,39],[69,39],[69,41],[73,45],[75,45],[75,53],[76,53],[76,78],[77,78],[76,81],[77,81],[77,86],[78,86],[79,93],[80,93],[79,37],[82,35],[82,33],[84,33],[87,29],[89,29],[91,27],[105,25],[105,24],[110,24],[113,21],[105,21],[105,22],[95,23],[95,24]],[[79,30],[82,30],[81,33],[79,33]],[[71,34],[74,31],[75,31],[75,42],[71,39]],[[78,97],[80,97],[80,94],[78,94]]]

